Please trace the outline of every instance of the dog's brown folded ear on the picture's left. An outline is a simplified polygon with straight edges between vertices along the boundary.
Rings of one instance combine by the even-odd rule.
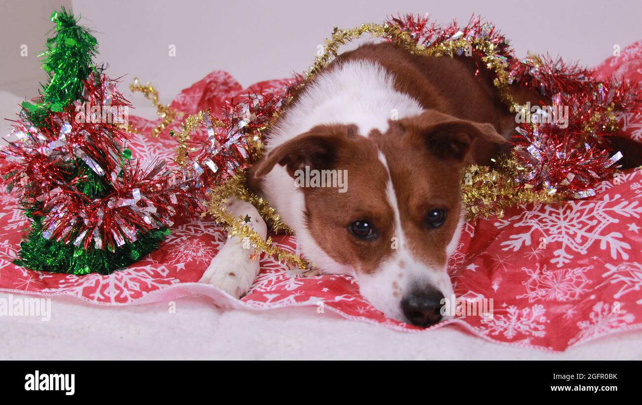
[[[336,159],[336,150],[345,142],[346,136],[356,134],[354,125],[319,125],[308,132],[277,146],[254,168],[254,177],[270,173],[275,165],[284,166],[291,177],[295,171],[305,169],[329,169]]]

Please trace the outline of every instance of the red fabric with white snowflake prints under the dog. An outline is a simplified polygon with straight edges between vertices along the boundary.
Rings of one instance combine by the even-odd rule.
[[[642,42],[627,47],[594,70],[603,77],[642,80]],[[261,82],[252,89],[279,89],[288,80]],[[225,101],[247,94],[227,73],[213,72],[184,90],[172,107],[193,114],[221,110]],[[642,114],[622,118],[623,135],[642,141]],[[157,123],[131,117],[151,132]],[[143,164],[171,159],[175,142],[133,134],[128,144]],[[184,295],[209,297],[226,308],[273,309],[319,306],[345,318],[404,332],[430,333],[458,327],[480,338],[541,350],[565,350],[614,332],[642,328],[642,170],[603,182],[590,200],[558,207],[538,205],[504,218],[467,223],[449,271],[458,297],[493,298],[494,316],[462,316],[427,330],[388,319],[359,294],[352,277],[304,277],[263,257],[248,295],[236,300],[199,284],[205,268],[225,243],[211,221],[177,223],[159,250],[111,275],[43,273],[15,266],[21,231],[28,221],[17,200],[0,194],[0,290],[65,295],[105,305],[142,304]],[[299,253],[295,237],[275,242]]]

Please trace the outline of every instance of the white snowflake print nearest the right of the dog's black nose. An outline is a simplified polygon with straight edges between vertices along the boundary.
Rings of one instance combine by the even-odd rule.
[[[517,309],[512,305],[508,307],[506,315],[495,313],[492,318],[482,318],[482,323],[487,327],[479,327],[478,331],[485,335],[492,334],[494,336],[501,333],[507,339],[512,339],[518,334],[541,338],[546,336],[544,330],[547,322],[545,313],[546,309],[541,304],[524,309]]]

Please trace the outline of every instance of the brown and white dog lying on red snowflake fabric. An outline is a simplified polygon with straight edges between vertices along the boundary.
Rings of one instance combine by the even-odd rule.
[[[354,275],[377,309],[414,325],[438,322],[453,293],[446,262],[462,232],[462,167],[490,164],[516,126],[490,74],[475,69],[388,43],[343,53],[295,94],[250,171],[317,270]],[[301,187],[306,170],[347,173],[347,187]],[[230,209],[265,236],[254,207]],[[259,264],[232,239],[202,282],[240,297]]]

